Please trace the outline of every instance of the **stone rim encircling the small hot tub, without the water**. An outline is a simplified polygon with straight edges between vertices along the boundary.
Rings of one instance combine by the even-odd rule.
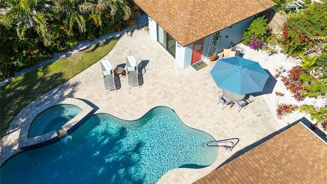
[[[73,119],[71,119],[66,124],[64,124],[61,127],[62,129],[58,131],[54,130],[43,135],[28,138],[30,126],[39,113],[55,105],[63,105],[63,104],[76,105],[79,108],[81,108],[82,111],[78,113]],[[93,114],[94,114],[94,108],[92,108],[84,101],[75,98],[66,98],[61,101],[58,100],[58,101],[45,103],[39,106],[37,110],[30,113],[29,116],[24,121],[24,123],[22,123],[20,134],[19,134],[18,148],[21,150],[32,150],[32,149],[53,144],[63,139],[67,135],[73,133],[84,122],[86,122]]]

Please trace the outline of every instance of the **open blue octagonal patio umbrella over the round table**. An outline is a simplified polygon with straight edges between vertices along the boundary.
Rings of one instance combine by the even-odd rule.
[[[239,56],[218,60],[210,74],[219,88],[239,95],[262,91],[269,77],[258,62]]]

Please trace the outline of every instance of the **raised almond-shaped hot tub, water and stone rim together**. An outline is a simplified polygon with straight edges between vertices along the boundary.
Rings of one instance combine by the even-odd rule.
[[[75,98],[57,99],[34,107],[22,120],[18,148],[32,150],[53,144],[78,129],[93,111],[93,107]]]

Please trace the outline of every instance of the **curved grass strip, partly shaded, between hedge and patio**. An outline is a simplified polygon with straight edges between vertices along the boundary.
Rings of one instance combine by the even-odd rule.
[[[1,87],[1,138],[5,135],[11,121],[23,108],[102,59],[113,49],[118,40],[115,38],[59,59],[40,67],[37,71],[17,77]]]

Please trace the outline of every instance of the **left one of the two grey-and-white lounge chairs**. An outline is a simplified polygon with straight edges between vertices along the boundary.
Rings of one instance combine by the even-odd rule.
[[[116,84],[114,82],[114,74],[112,71],[112,66],[108,59],[101,60],[101,68],[102,68],[102,75],[104,80],[104,88],[105,90],[113,90],[117,89]]]

